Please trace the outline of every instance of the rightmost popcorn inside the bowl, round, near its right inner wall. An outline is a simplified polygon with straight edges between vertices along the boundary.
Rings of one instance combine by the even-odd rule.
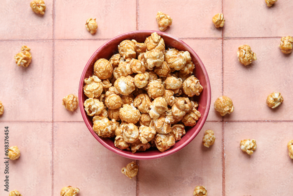
[[[190,76],[183,82],[183,91],[188,97],[194,95],[200,95],[203,87],[200,85],[200,81],[195,76]]]

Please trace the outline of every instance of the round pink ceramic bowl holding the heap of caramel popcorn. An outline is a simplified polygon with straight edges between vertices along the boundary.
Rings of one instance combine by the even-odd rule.
[[[182,139],[176,142],[175,145],[173,145],[169,150],[166,150],[162,153],[157,149],[149,149],[144,152],[132,153],[131,151],[120,150],[116,148],[114,146],[113,138],[100,138],[93,131],[92,117],[86,114],[83,105],[84,101],[88,98],[84,95],[83,91],[84,79],[93,75],[93,65],[99,58],[110,59],[113,54],[118,53],[117,46],[121,41],[125,39],[135,39],[136,41],[142,43],[153,32],[157,32],[158,35],[160,35],[164,39],[166,48],[176,48],[179,51],[189,51],[192,61],[195,64],[193,74],[200,80],[200,84],[203,86],[203,91],[200,93],[200,96],[196,96],[198,103],[197,110],[200,111],[201,117],[199,118],[194,127],[188,127],[186,129],[186,134],[182,137]],[[88,130],[91,132],[93,137],[96,138],[96,140],[98,140],[98,142],[100,142],[105,148],[126,158],[137,160],[151,160],[166,157],[168,155],[178,152],[186,145],[188,145],[188,143],[190,143],[193,140],[193,138],[195,138],[195,136],[200,132],[209,114],[209,107],[211,104],[211,86],[209,83],[209,76],[207,75],[207,70],[205,69],[205,66],[203,65],[202,61],[197,56],[197,54],[193,51],[193,49],[190,48],[186,43],[172,35],[169,35],[168,33],[160,31],[132,31],[129,33],[119,35],[113,39],[110,39],[109,41],[104,43],[95,53],[93,53],[91,58],[88,60],[88,63],[86,63],[84,71],[81,74],[78,98],[81,115],[84,119],[84,122],[86,123]]]

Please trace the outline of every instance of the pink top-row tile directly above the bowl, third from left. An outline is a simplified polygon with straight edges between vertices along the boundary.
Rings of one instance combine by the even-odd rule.
[[[222,12],[222,1],[143,1],[139,0],[138,29],[159,31],[156,15],[158,11],[172,18],[166,33],[178,38],[222,37],[222,29],[215,28],[212,17]],[[186,14],[185,14],[186,13]]]

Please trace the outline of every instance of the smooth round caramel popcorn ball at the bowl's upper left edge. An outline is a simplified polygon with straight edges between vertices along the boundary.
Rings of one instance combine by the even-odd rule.
[[[113,66],[107,59],[100,58],[93,66],[93,73],[101,80],[107,79],[113,73]]]

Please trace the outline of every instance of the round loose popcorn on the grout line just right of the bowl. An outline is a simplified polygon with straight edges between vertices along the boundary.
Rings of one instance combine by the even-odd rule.
[[[218,111],[221,116],[230,114],[234,111],[233,102],[229,97],[220,96],[214,102],[214,109]]]

